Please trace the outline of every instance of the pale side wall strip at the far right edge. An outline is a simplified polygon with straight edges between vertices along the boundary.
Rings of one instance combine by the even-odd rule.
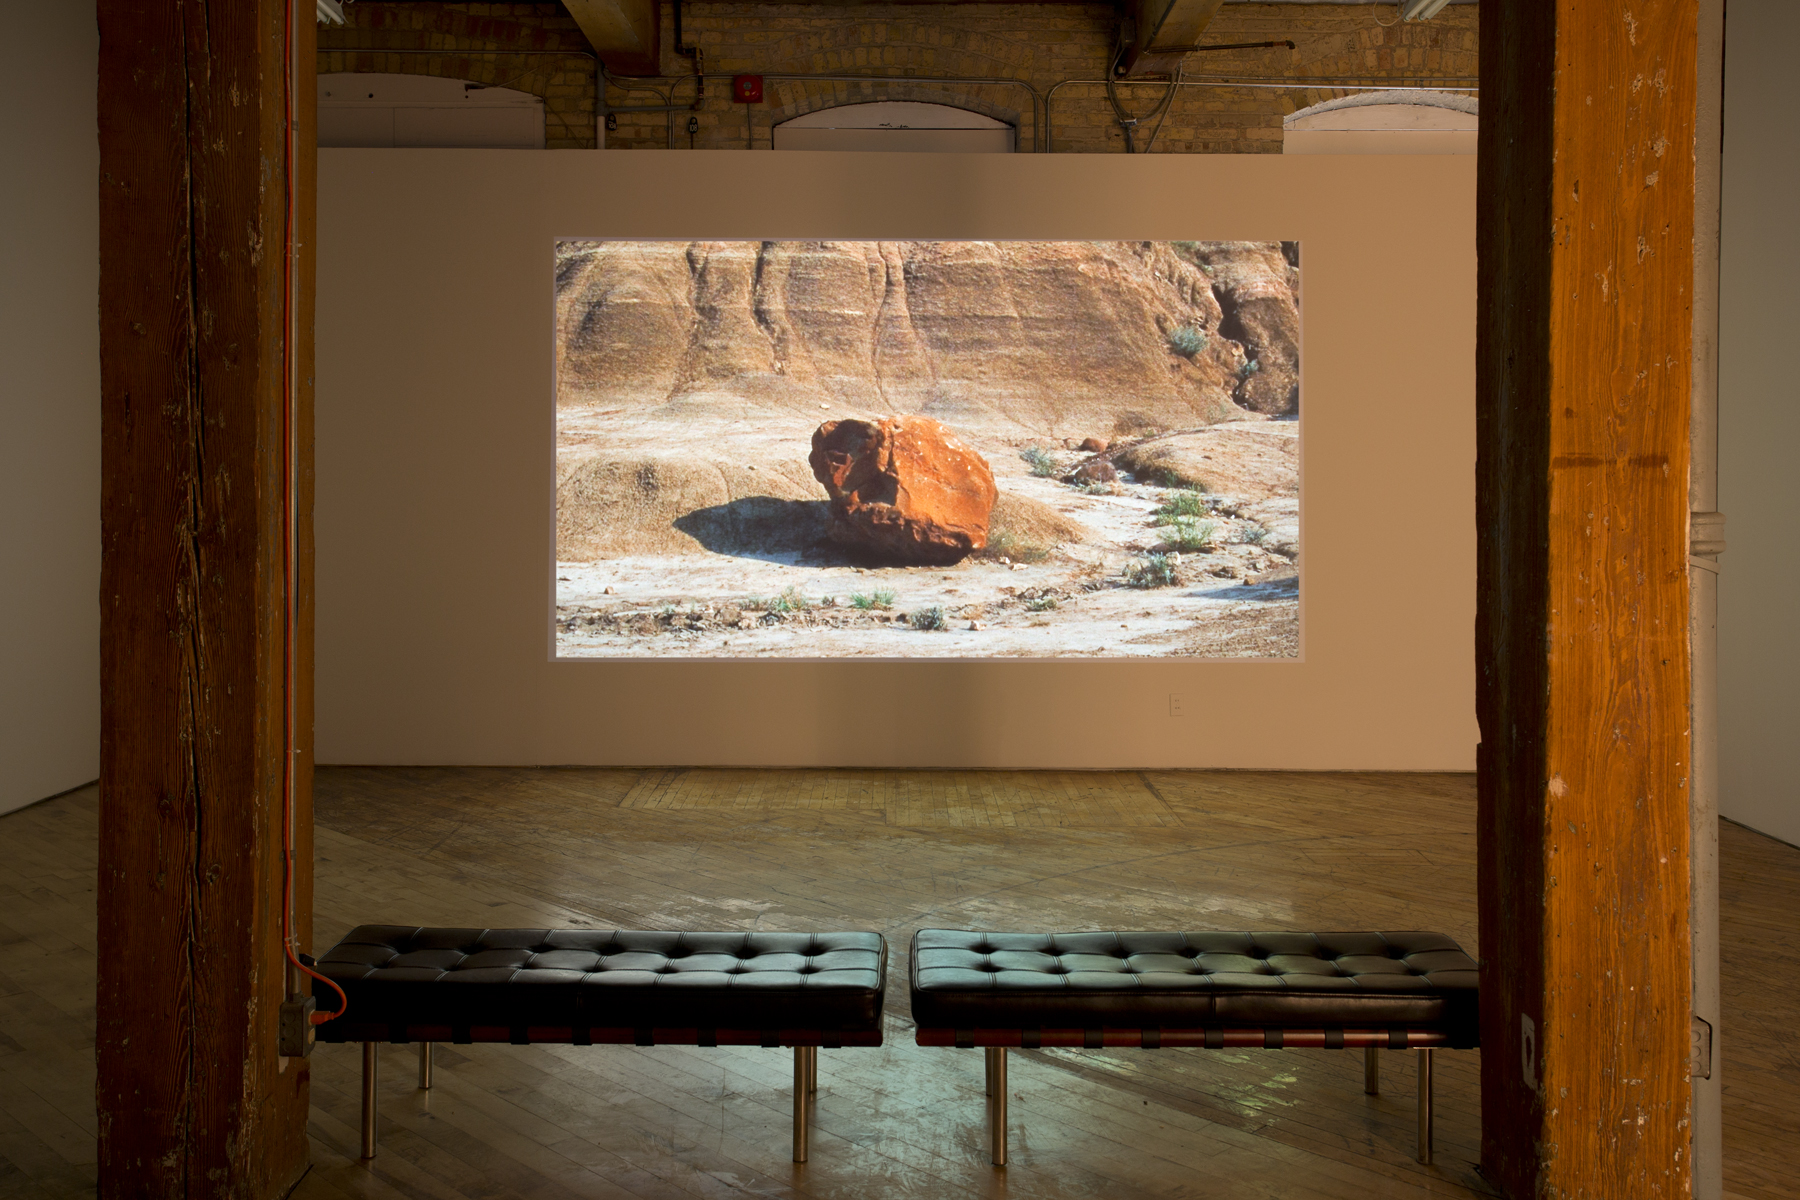
[[[1719,811],[1800,844],[1800,43],[1730,0],[1719,250]]]

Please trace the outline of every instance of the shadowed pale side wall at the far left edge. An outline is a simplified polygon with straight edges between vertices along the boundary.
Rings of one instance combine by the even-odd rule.
[[[99,34],[0,0],[0,811],[99,772]]]

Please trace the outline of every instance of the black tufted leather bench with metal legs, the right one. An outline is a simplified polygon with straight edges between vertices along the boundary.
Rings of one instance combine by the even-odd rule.
[[[920,1045],[983,1047],[988,1133],[1006,1164],[1010,1047],[1418,1051],[1418,1160],[1431,1162],[1431,1051],[1478,1045],[1476,963],[1444,934],[913,936]]]

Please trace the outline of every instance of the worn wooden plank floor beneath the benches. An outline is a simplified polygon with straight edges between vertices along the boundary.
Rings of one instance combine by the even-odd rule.
[[[821,1052],[788,1162],[787,1051],[383,1049],[356,1160],[355,1047],[313,1058],[299,1196],[1485,1196],[1476,1052],[1438,1054],[1413,1162],[1409,1056],[1379,1097],[1332,1051],[1021,1052],[1006,1171],[981,1063],[911,1043],[905,941],[938,927],[1440,928],[1471,950],[1467,775],[328,768],[319,946],[432,925],[878,928],[887,1045]],[[83,790],[0,817],[0,1196],[94,1195],[94,846]],[[1800,851],[1726,826],[1726,1184],[1800,1195]]]

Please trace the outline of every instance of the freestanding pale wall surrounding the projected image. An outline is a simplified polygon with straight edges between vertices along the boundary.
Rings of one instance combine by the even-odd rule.
[[[319,178],[320,763],[1474,766],[1471,157],[329,149]],[[556,237],[1298,239],[1303,660],[553,662]]]

